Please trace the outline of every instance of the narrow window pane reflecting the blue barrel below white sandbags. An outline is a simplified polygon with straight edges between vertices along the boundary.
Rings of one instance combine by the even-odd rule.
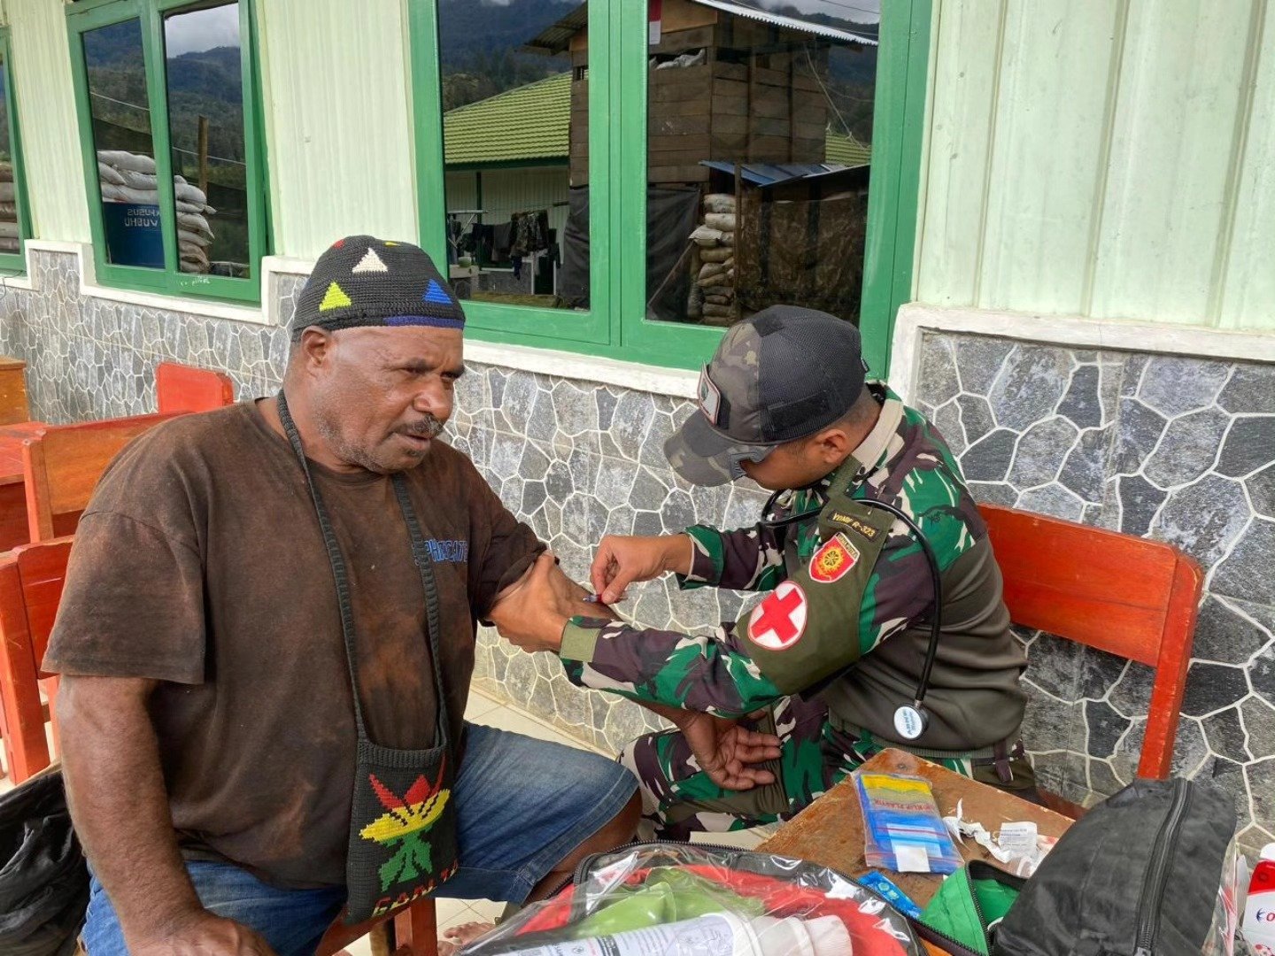
[[[88,31],[83,38],[106,260],[162,269],[142,25],[125,20]]]

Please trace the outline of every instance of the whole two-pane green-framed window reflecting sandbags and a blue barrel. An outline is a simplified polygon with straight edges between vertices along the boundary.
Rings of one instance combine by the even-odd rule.
[[[79,0],[71,66],[98,280],[258,302],[255,0]]]

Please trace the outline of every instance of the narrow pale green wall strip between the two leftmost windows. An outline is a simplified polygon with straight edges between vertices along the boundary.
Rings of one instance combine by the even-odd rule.
[[[91,242],[61,0],[4,0],[36,238]]]

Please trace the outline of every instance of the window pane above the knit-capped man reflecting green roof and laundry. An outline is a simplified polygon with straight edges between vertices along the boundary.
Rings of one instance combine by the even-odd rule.
[[[448,264],[462,298],[588,307],[586,34],[579,0],[439,3]]]

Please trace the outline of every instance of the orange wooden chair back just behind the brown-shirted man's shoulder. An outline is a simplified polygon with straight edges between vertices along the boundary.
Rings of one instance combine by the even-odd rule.
[[[125,445],[175,414],[50,424],[22,442],[31,540],[74,534],[102,472]]]

